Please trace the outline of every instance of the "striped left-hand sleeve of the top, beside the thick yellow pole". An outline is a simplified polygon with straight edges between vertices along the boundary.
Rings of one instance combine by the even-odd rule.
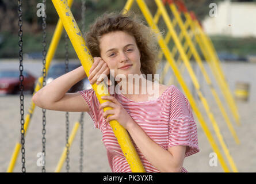
[[[89,106],[89,111],[87,112],[93,119],[94,127],[102,131],[102,124],[104,122],[103,110],[100,109],[100,102],[93,89],[78,91],[83,99],[87,102]]]

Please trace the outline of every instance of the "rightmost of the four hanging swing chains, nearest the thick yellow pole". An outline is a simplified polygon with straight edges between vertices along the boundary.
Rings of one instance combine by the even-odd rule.
[[[86,1],[82,0],[82,32],[83,34],[85,33],[85,10],[86,10],[86,6],[85,6]],[[83,172],[83,116],[84,113],[81,113],[81,117],[80,117],[80,126],[81,126],[81,133],[80,133],[80,166],[79,166],[79,170],[80,173]]]

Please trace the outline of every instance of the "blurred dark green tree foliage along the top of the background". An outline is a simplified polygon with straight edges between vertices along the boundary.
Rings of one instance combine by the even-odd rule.
[[[255,0],[256,1],[256,0]],[[121,11],[125,5],[126,0],[86,0],[86,24],[90,24],[96,17],[100,16],[105,11]],[[195,11],[197,17],[202,20],[209,12],[209,3],[220,2],[205,1],[205,0],[184,0],[189,10]],[[40,0],[22,1],[24,29],[26,31],[37,33],[41,30],[41,17],[36,16],[38,8],[37,3]],[[154,14],[157,7],[154,1],[146,0],[148,7]],[[18,11],[17,1],[0,0],[0,31],[7,31],[15,33],[18,30]],[[79,24],[81,24],[81,5],[82,0],[75,0],[72,5],[72,13]],[[133,6],[133,10],[140,12],[139,9]],[[49,27],[55,26],[58,21],[58,14],[56,13],[52,1],[47,1],[46,4],[47,24]]]

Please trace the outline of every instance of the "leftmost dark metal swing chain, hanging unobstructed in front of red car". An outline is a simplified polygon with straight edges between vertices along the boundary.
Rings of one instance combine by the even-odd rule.
[[[22,36],[23,36],[23,31],[22,31],[22,0],[18,0],[18,36],[19,36],[19,41],[18,41],[18,46],[20,48],[19,51],[19,60],[20,60],[20,113],[21,113],[21,162],[22,162],[22,168],[21,171],[22,173],[26,173],[26,168],[25,168],[25,130],[24,130],[24,95],[23,95],[23,81],[24,81],[24,76],[22,74],[23,72],[23,41],[22,41]]]

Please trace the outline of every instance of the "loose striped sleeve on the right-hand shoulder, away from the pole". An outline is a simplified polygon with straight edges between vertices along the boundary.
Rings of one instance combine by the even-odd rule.
[[[196,154],[199,151],[197,139],[197,126],[189,101],[174,86],[171,92],[168,148],[187,145],[185,156]]]

